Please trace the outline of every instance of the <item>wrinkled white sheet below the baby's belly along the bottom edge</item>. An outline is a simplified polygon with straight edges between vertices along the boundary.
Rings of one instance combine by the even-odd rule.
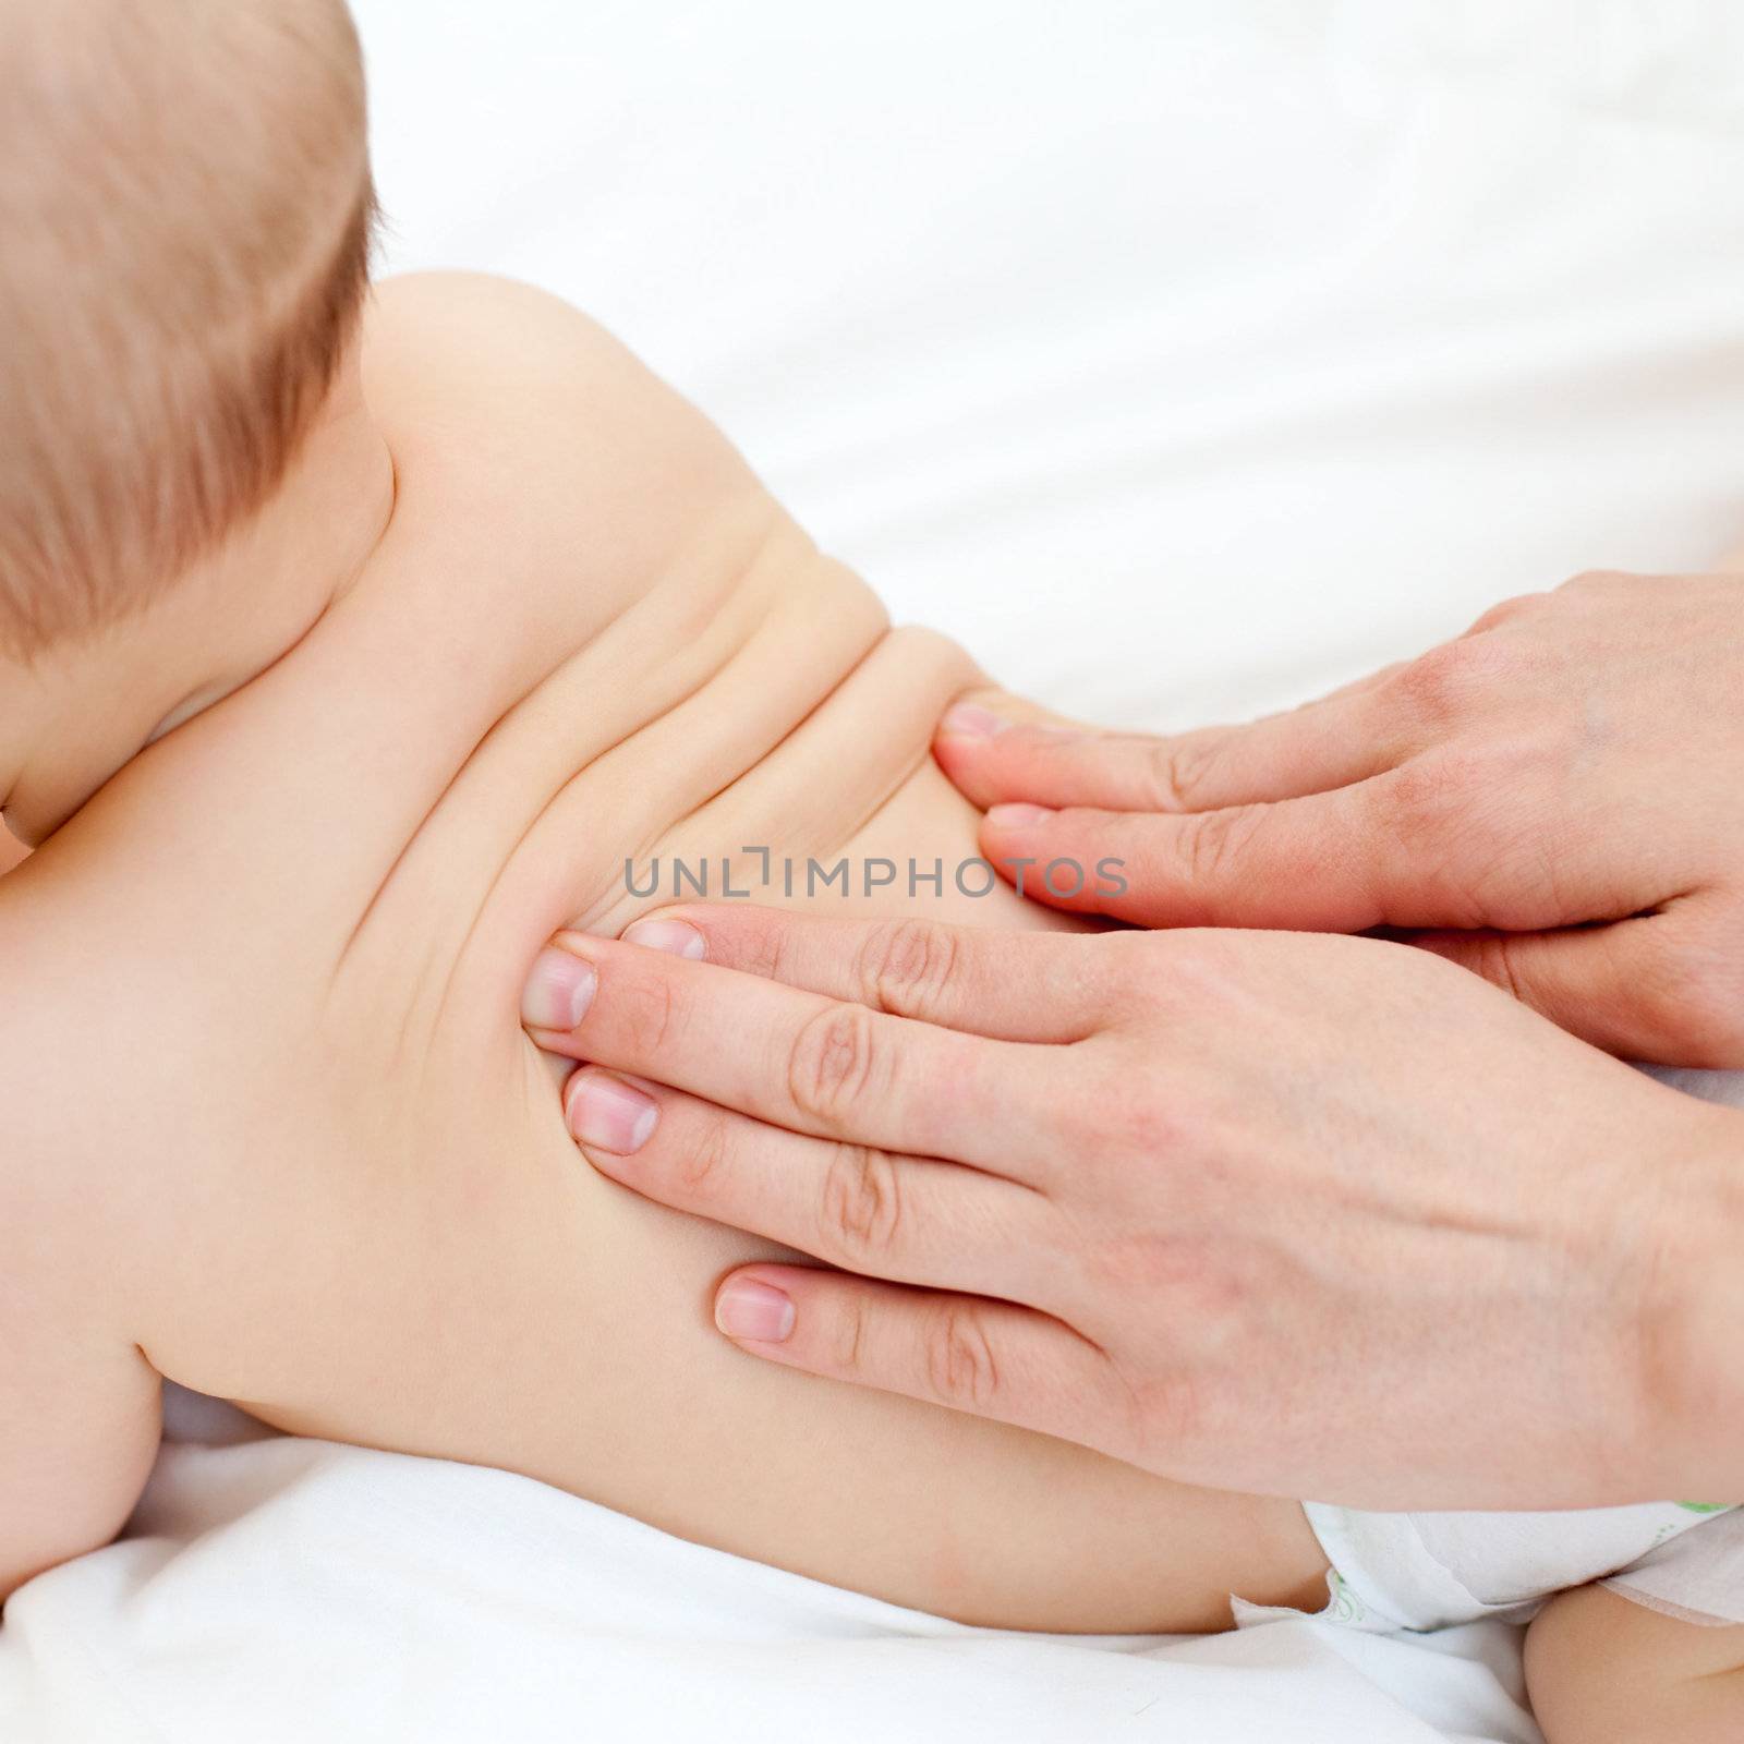
[[[1489,1627],[1435,1652],[971,1631],[523,1477],[272,1437],[166,1448],[129,1542],[23,1589],[0,1737],[1528,1741]]]

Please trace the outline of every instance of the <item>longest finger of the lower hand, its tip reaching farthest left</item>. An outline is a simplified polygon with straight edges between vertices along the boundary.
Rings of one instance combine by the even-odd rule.
[[[539,954],[521,1020],[555,1053],[795,1132],[992,1167],[1032,1155],[1029,1100],[1059,1052],[584,933]]]

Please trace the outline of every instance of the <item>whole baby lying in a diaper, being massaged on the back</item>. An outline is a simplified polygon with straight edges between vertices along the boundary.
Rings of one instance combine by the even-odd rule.
[[[1735,1737],[1739,1514],[1305,1512],[713,1334],[776,1250],[579,1165],[527,966],[626,858],[970,858],[978,675],[572,310],[366,300],[363,122],[331,0],[0,5],[0,1591],[120,1528],[169,1376],[982,1624],[1571,1587],[1552,1739]]]

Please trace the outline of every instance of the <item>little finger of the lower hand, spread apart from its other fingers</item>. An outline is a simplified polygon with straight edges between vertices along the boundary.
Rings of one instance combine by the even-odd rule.
[[[715,1324],[790,1369],[907,1393],[954,1411],[1137,1451],[1130,1399],[1104,1352],[1032,1308],[877,1284],[813,1266],[745,1266],[715,1292]]]

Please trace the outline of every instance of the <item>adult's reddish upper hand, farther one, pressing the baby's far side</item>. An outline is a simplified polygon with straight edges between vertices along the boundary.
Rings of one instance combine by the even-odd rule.
[[[982,849],[1029,862],[1025,895],[1144,926],[1432,930],[1599,1046],[1744,1066],[1741,577],[1582,576],[1252,726],[999,727],[954,710],[937,755],[998,807]]]

